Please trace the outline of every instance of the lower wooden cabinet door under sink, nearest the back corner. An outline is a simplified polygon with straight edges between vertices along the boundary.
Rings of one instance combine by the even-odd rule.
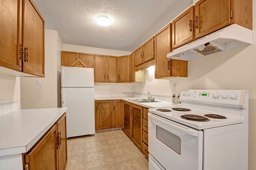
[[[124,132],[131,137],[131,104],[124,102]]]

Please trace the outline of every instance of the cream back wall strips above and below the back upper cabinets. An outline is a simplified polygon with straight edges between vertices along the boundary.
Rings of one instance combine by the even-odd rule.
[[[122,56],[130,55],[130,51],[118,51],[113,49],[103,49],[103,48],[93,48],[85,46],[76,46],[71,44],[63,44],[63,51],[74,51],[79,53],[92,53],[100,55],[113,55],[113,56]],[[102,91],[104,87],[104,91]],[[100,92],[132,92],[132,84],[120,84],[120,83],[95,83],[95,93]]]

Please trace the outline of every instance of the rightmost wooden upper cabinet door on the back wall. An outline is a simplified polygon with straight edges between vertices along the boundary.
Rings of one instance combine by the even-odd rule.
[[[118,57],[118,82],[130,82],[130,55]]]

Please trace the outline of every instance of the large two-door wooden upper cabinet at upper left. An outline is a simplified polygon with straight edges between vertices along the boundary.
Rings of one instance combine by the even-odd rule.
[[[45,77],[45,20],[32,0],[0,4],[0,66]]]

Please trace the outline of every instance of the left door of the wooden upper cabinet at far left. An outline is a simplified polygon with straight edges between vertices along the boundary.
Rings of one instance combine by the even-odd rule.
[[[21,71],[19,48],[21,44],[22,0],[0,3],[0,66]]]

